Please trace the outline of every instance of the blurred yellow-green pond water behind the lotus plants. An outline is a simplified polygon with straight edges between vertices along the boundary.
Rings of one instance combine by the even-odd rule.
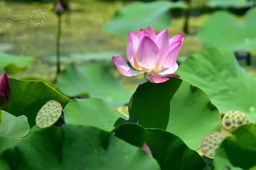
[[[116,9],[127,5],[123,1],[79,0],[70,2],[71,13],[62,16],[62,35],[60,54],[69,56],[77,53],[92,53],[102,51],[117,51],[126,57],[127,37],[116,36],[102,31],[102,25],[112,19]],[[38,2],[9,2],[0,1],[0,43],[9,43],[13,48],[6,52],[10,54],[33,56],[35,58],[28,71],[12,77],[40,77],[53,80],[55,75],[54,55],[56,55],[57,15],[53,12],[53,3]],[[31,23],[11,23],[9,10],[33,11],[41,9],[46,15],[43,25]],[[198,26],[208,17],[204,14],[190,18],[190,32],[196,33]],[[172,20],[168,28],[169,36],[183,33],[184,18]],[[202,46],[195,35],[185,36],[179,56],[189,56],[200,51]],[[112,56],[109,56],[111,59]],[[64,59],[62,69],[72,59]],[[76,59],[78,64],[83,64]]]

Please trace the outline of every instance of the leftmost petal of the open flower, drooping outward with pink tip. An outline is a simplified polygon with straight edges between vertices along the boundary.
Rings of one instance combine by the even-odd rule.
[[[114,55],[112,57],[116,68],[124,75],[124,76],[136,76],[139,74],[143,74],[145,71],[135,71],[131,70],[128,64],[120,55]]]

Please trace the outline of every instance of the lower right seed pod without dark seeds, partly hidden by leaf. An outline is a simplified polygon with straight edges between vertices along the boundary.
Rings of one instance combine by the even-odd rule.
[[[203,137],[201,143],[201,150],[203,154],[213,159],[215,156],[216,150],[219,148],[222,141],[225,139],[225,135],[219,132],[211,132],[208,133],[205,137]]]

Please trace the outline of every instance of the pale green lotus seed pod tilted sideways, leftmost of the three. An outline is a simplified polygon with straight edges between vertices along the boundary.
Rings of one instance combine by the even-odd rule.
[[[35,122],[40,128],[46,128],[52,125],[61,126],[65,124],[64,112],[60,103],[54,100],[47,101],[38,111]]]

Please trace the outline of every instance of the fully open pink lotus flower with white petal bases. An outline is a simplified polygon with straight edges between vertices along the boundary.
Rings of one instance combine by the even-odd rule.
[[[140,84],[149,80],[152,83],[167,81],[171,76],[179,77],[173,73],[178,69],[176,59],[183,42],[183,35],[177,34],[168,39],[167,29],[158,35],[149,26],[137,34],[129,32],[127,40],[127,57],[136,70],[129,68],[120,55],[112,57],[117,69],[125,76],[144,74]]]

